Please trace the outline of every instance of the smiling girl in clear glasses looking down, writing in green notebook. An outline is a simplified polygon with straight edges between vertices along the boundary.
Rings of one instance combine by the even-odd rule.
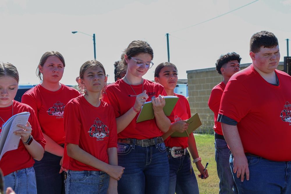
[[[103,99],[113,106],[117,121],[118,165],[125,167],[118,193],[168,191],[169,164],[161,137],[171,125],[161,96],[167,94],[162,85],[142,77],[152,67],[152,58],[153,50],[147,42],[132,41],[124,51],[125,76],[105,88]],[[136,123],[141,106],[150,100],[155,118]]]

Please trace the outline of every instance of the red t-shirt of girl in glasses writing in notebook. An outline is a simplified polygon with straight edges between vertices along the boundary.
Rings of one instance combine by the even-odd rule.
[[[129,97],[128,95],[135,95],[134,91],[139,95],[143,92],[142,90],[146,90],[148,95],[146,102],[151,101],[152,98],[156,98],[159,95],[167,95],[161,84],[146,79],[144,79],[143,84],[131,86],[132,88],[123,79],[120,79],[106,87],[106,94],[104,94],[103,100],[113,106],[116,118],[132,108],[136,98]],[[123,131],[117,134],[118,138],[151,139],[162,135],[162,131],[158,128],[155,118],[136,123],[138,115],[139,113],[136,114],[134,119]]]

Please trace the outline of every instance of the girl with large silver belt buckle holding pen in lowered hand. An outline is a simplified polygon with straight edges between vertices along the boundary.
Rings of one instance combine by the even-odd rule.
[[[208,172],[207,169],[204,172],[204,166],[201,164],[201,158],[198,155],[193,133],[189,134],[189,138],[170,136],[175,131],[184,132],[188,127],[188,124],[184,121],[191,117],[190,107],[186,97],[174,93],[177,81],[178,70],[174,64],[165,62],[156,67],[155,82],[164,86],[168,96],[175,95],[179,97],[179,100],[173,109],[174,118],[172,119],[171,127],[162,135],[167,147],[170,165],[170,185],[168,193],[199,194],[198,184],[191,165],[189,152],[194,159],[193,163],[196,164],[196,167],[200,172],[198,177],[206,179],[208,177]]]

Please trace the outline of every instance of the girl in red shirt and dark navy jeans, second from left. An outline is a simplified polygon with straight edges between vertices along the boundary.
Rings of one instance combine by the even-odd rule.
[[[43,159],[33,166],[39,194],[65,193],[62,172],[65,170],[62,167],[65,143],[63,113],[66,104],[80,93],[59,83],[64,68],[65,60],[59,52],[43,54],[37,69],[42,83],[24,93],[21,99],[35,111],[47,142]]]

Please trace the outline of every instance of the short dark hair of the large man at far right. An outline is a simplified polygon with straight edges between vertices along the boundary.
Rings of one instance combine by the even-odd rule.
[[[277,37],[268,31],[254,33],[250,40],[250,52],[258,53],[260,48],[273,48],[279,45]]]

